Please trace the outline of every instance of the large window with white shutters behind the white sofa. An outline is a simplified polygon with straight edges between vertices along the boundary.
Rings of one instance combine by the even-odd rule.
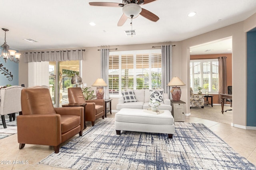
[[[109,54],[109,94],[126,89],[161,88],[161,50],[119,51]]]

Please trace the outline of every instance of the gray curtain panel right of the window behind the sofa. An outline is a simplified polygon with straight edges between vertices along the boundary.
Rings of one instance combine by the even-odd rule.
[[[172,79],[172,45],[162,45],[162,88],[170,98],[170,86],[167,84]]]

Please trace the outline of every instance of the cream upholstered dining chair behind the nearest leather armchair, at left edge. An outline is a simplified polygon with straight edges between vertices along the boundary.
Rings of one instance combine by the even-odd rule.
[[[10,86],[0,89],[0,115],[4,128],[7,128],[5,115],[9,115],[10,121],[15,120],[15,113],[21,111],[20,96],[22,86]]]

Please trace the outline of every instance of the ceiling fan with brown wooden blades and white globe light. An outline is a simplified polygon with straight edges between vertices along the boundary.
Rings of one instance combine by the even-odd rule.
[[[122,4],[115,2],[89,2],[92,6],[112,6],[112,7],[122,7],[123,15],[117,23],[117,26],[122,26],[128,18],[135,18],[139,14],[151,21],[158,21],[159,17],[152,12],[141,8],[140,5],[148,4],[155,0],[123,0]]]

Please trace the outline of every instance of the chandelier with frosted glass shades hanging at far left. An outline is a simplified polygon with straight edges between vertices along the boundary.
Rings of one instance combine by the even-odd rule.
[[[20,59],[20,53],[16,53],[15,50],[10,50],[9,45],[6,43],[6,31],[9,31],[9,29],[6,28],[2,28],[2,30],[4,30],[4,44],[1,45],[2,49],[2,53],[1,53],[1,57],[4,58],[4,61],[6,63],[6,60],[9,58],[10,61],[13,61],[14,63],[19,63],[19,59]]]

